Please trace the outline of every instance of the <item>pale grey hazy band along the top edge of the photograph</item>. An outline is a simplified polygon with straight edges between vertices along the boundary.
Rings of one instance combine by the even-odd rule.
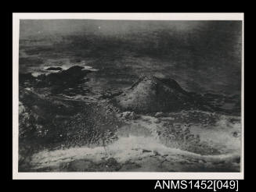
[[[131,20],[21,20],[20,35],[35,34],[130,34],[169,29],[188,32],[207,27],[211,21],[131,21]]]

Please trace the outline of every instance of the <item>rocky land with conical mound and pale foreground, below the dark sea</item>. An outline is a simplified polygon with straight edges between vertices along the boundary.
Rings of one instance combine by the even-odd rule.
[[[88,73],[20,74],[20,171],[239,171],[240,118],[155,76],[72,98],[92,94]]]

